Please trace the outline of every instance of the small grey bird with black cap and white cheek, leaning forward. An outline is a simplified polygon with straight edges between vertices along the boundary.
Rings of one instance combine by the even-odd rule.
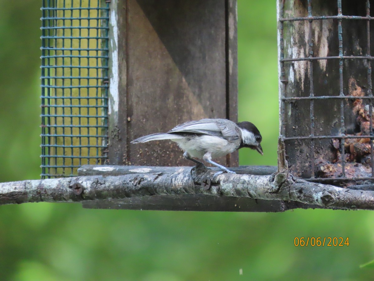
[[[233,174],[235,172],[215,163],[212,158],[224,156],[242,147],[256,149],[263,155],[260,145],[262,137],[256,126],[247,121],[234,123],[227,119],[188,121],[177,125],[167,133],[142,136],[131,143],[162,139],[178,143],[178,146],[184,151],[183,157],[187,160],[204,165],[191,157],[203,158],[206,162]]]

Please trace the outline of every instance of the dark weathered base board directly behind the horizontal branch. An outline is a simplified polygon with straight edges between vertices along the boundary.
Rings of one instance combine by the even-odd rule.
[[[190,167],[181,167],[180,172]],[[214,168],[216,169],[216,168]],[[277,171],[275,166],[240,166],[233,168],[237,174],[270,175]],[[162,173],[175,171],[174,167],[151,166],[103,166],[84,165],[78,169],[79,176],[119,176],[132,173]],[[244,197],[217,197],[207,195],[143,196],[125,199],[95,200],[82,202],[84,208],[131,209],[159,211],[227,211],[227,212],[283,212],[295,208],[318,208],[300,202],[255,200]]]

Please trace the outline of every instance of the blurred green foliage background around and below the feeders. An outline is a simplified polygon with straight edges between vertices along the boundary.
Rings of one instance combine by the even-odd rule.
[[[40,173],[40,1],[0,0],[0,181]],[[276,164],[275,1],[239,0],[239,120],[263,134]],[[374,213],[281,214],[0,206],[0,280],[372,280]],[[295,237],[349,237],[349,247],[295,247]],[[242,269],[243,275],[239,275]]]

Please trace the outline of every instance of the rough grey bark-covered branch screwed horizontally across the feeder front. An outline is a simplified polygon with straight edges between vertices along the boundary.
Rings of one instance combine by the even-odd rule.
[[[351,190],[295,179],[285,171],[272,175],[227,174],[213,180],[214,170],[190,167],[126,166],[124,175],[108,175],[114,166],[82,167],[87,175],[72,178],[0,183],[0,205],[25,202],[79,202],[153,195],[205,194],[291,200],[325,208],[374,209],[374,191]],[[208,178],[210,185],[204,184]],[[202,184],[203,182],[203,184]],[[314,206],[315,207],[315,206]]]

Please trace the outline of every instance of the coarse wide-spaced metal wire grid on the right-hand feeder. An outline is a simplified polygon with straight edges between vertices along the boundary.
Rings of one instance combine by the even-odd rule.
[[[373,61],[374,57],[371,56],[370,53],[370,21],[374,20],[374,17],[370,16],[370,1],[366,0],[365,1],[365,8],[366,8],[366,15],[365,16],[358,16],[358,15],[343,15],[343,10],[342,10],[342,1],[337,0],[337,15],[318,15],[318,16],[313,16],[313,9],[312,9],[312,3],[316,4],[321,4],[322,1],[312,1],[312,0],[307,0],[304,1],[307,4],[307,16],[301,16],[301,17],[289,17],[286,18],[284,17],[284,4],[285,0],[279,0],[279,64],[280,64],[280,82],[281,82],[281,87],[280,87],[280,116],[281,116],[281,135],[284,136],[285,141],[306,141],[307,145],[310,147],[310,151],[312,152],[310,155],[311,161],[310,161],[310,177],[306,177],[305,179],[310,180],[310,181],[352,181],[353,180],[374,180],[374,161],[373,161],[373,93],[372,93],[372,73],[371,73],[371,61]],[[334,19],[337,21],[337,25],[335,28],[337,28],[338,31],[338,55],[332,55],[332,56],[313,56],[313,44],[314,44],[314,38],[312,36],[312,23],[313,21],[326,21],[328,19]],[[367,37],[367,42],[366,42],[366,52],[364,55],[349,55],[349,54],[343,54],[343,42],[344,40],[347,40],[348,38],[343,38],[343,27],[342,27],[342,21],[347,20],[347,21],[366,21],[366,37]],[[285,23],[286,22],[295,22],[295,21],[302,21],[302,22],[307,22],[309,27],[309,37],[307,39],[307,44],[309,45],[309,54],[307,54],[305,57],[292,57],[292,58],[287,58],[285,57],[285,42],[283,41],[283,35],[284,35],[284,28],[285,28]],[[306,31],[307,32],[307,31]],[[338,60],[338,73],[339,73],[339,87],[340,87],[340,93],[338,93],[335,96],[330,96],[330,95],[315,95],[314,87],[313,84],[315,81],[313,81],[313,61],[318,61],[318,60],[327,60],[327,61],[332,61],[332,60]],[[367,67],[367,85],[366,85],[366,93],[365,96],[352,96],[352,95],[347,95],[344,93],[344,87],[343,87],[343,72],[349,72],[351,71],[350,69],[345,69],[344,68],[344,61],[345,60],[361,60],[362,64]],[[308,63],[308,68],[309,68],[309,94],[306,94],[306,96],[285,96],[285,87],[287,83],[289,82],[288,77],[286,76],[286,70],[285,70],[285,64],[288,63],[294,63],[297,61],[307,61]],[[369,106],[369,116],[370,116],[370,133],[369,134],[364,134],[361,136],[355,135],[347,135],[346,133],[346,124],[344,120],[344,110],[346,105],[344,104],[344,101],[346,100],[362,100],[368,103]],[[310,134],[309,135],[285,135],[286,133],[286,123],[287,123],[287,118],[286,118],[286,105],[288,103],[296,102],[296,101],[306,101],[309,102],[310,106],[310,113],[309,113],[309,118],[310,118]],[[340,103],[340,134],[337,135],[318,135],[318,132],[315,130],[315,102],[318,100],[336,100]],[[331,114],[331,112],[326,112],[326,114]],[[303,122],[304,120],[301,120]],[[305,121],[304,121],[305,122]],[[308,121],[309,122],[309,121]],[[316,175],[316,167],[315,167],[315,141],[316,140],[322,140],[322,139],[329,139],[329,140],[334,140],[338,139],[339,140],[339,151],[341,153],[341,159],[339,160],[339,163],[341,165],[341,175],[338,177],[330,177],[330,178],[321,178]],[[357,176],[357,177],[351,177],[346,175],[346,157],[344,155],[345,149],[344,149],[344,142],[347,139],[370,139],[370,160],[371,160],[371,175],[369,176]],[[306,161],[306,160],[305,160]]]

